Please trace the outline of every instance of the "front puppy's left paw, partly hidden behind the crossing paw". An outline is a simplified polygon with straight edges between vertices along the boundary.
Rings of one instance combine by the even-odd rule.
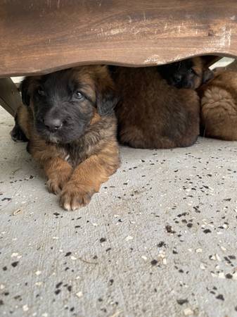
[[[70,168],[65,170],[58,170],[58,172],[54,173],[47,182],[49,192],[53,194],[59,194],[70,179],[71,174],[72,169]]]

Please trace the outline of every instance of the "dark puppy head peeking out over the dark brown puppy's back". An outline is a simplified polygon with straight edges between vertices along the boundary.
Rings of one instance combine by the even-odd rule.
[[[213,77],[205,58],[201,57],[158,66],[158,72],[169,85],[177,88],[197,89]]]

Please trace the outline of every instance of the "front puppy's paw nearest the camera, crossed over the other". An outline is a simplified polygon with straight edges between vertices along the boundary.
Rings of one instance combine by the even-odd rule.
[[[68,182],[61,192],[60,206],[65,210],[74,211],[89,204],[95,192],[95,189],[88,185]]]

